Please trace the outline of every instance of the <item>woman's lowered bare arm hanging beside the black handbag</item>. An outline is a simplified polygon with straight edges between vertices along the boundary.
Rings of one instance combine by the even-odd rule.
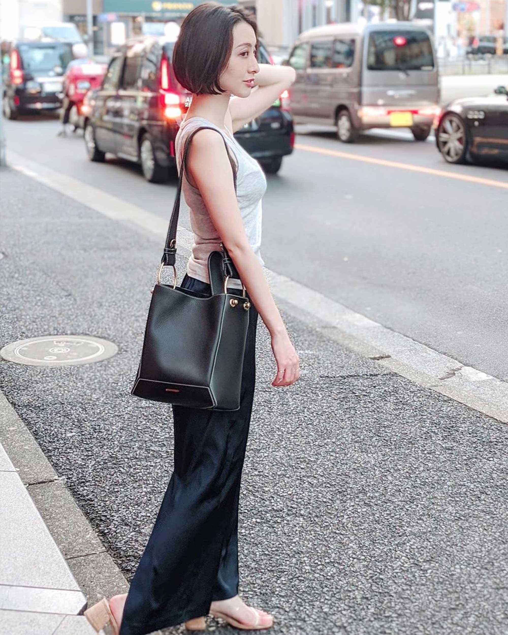
[[[211,221],[270,331],[272,351],[277,361],[277,375],[272,385],[293,384],[300,376],[298,356],[272,298],[262,266],[246,236],[234,191],[231,163],[220,133],[199,130],[194,135],[187,173],[196,183]]]

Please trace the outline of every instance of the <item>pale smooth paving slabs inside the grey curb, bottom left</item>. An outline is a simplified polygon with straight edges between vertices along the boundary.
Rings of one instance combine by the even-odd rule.
[[[17,414],[1,392],[0,417],[3,430],[19,429]],[[0,630],[5,635],[95,633],[78,615],[86,608],[86,598],[19,471],[0,443]],[[55,472],[48,472],[46,477],[57,479]]]

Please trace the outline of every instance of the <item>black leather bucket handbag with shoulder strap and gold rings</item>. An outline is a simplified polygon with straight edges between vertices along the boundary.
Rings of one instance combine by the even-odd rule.
[[[131,394],[190,408],[238,410],[251,305],[245,288],[243,297],[227,291],[228,279],[239,276],[225,247],[222,253],[213,251],[208,258],[209,297],[177,286],[175,259],[182,178],[190,141],[203,128],[210,126],[198,128],[185,144],[177,197]],[[236,168],[229,151],[228,156],[236,192]],[[161,283],[163,267],[173,267],[173,284]]]

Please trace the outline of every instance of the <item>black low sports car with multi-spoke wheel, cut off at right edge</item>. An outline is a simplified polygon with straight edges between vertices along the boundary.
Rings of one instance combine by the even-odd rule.
[[[438,150],[448,163],[480,157],[508,161],[508,86],[489,97],[456,99],[434,123]]]

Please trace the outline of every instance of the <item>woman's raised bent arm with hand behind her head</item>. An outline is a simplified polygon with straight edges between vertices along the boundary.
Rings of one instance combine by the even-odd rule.
[[[231,121],[226,114],[226,125],[232,126],[233,132],[240,130],[244,124],[265,112],[284,90],[290,88],[295,79],[295,69],[290,66],[260,64],[250,95],[248,97],[232,97],[229,100]]]

